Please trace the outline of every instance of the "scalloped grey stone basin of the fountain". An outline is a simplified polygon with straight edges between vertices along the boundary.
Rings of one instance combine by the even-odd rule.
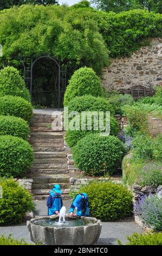
[[[101,233],[102,224],[100,220],[91,217],[81,217],[81,220],[92,221],[92,224],[77,227],[42,227],[36,225],[37,221],[55,220],[57,215],[44,216],[27,221],[30,239],[34,243],[41,242],[43,245],[95,245]],[[66,220],[76,220],[77,217],[66,215]]]

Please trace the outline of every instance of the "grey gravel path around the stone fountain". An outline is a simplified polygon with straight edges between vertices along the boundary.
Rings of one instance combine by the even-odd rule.
[[[47,215],[46,200],[35,201],[35,204],[35,215]],[[66,206],[67,209],[69,209],[70,204],[70,200],[64,200],[64,206]],[[134,232],[142,233],[142,228],[133,220],[102,222],[102,231],[98,245],[116,245],[118,239],[120,239],[122,243],[126,243],[126,236],[129,236]],[[29,231],[25,223],[10,227],[0,227],[0,236],[2,234],[9,235],[11,233],[16,239],[22,239],[23,237],[25,241],[31,242]]]

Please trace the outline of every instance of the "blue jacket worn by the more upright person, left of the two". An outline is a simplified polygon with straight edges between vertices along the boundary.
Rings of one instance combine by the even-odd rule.
[[[48,215],[56,214],[56,211],[60,212],[62,205],[61,194],[57,196],[54,190],[51,190],[47,198]]]

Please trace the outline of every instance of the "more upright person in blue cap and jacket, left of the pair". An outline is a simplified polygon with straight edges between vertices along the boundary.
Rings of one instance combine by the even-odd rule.
[[[48,215],[59,215],[63,205],[61,193],[60,185],[54,185],[53,189],[50,191],[49,197],[47,198]]]

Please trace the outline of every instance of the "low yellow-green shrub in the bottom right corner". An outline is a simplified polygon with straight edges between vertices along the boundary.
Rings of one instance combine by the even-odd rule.
[[[127,236],[127,240],[128,243],[126,245],[162,245],[162,232],[147,234],[134,233],[131,236]],[[120,240],[118,240],[118,244],[122,245]]]

